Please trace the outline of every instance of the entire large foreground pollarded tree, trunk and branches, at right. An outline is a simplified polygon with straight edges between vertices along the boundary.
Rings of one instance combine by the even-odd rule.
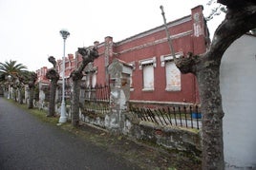
[[[226,6],[223,23],[216,29],[208,51],[176,59],[181,73],[197,77],[203,112],[203,169],[224,169],[224,142],[220,66],[224,51],[247,31],[256,28],[255,0],[218,0]]]

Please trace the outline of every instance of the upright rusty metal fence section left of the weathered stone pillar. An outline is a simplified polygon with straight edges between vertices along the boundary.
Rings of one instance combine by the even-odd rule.
[[[84,105],[82,114],[87,116],[104,115],[110,111],[109,85],[95,85],[84,87]]]

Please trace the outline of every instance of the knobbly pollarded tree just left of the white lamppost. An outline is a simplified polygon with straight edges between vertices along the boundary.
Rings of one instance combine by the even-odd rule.
[[[55,115],[55,96],[56,96],[56,88],[57,81],[59,80],[59,75],[56,70],[56,61],[53,56],[48,58],[48,61],[53,64],[53,68],[49,69],[46,73],[46,78],[50,79],[50,101],[48,108],[48,117],[53,117]]]

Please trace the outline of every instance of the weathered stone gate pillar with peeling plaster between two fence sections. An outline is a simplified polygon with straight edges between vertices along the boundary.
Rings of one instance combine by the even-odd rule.
[[[117,59],[108,66],[110,75],[110,107],[111,111],[105,118],[105,126],[111,132],[121,133],[124,125],[126,102],[130,98],[130,75],[132,66],[128,66]]]

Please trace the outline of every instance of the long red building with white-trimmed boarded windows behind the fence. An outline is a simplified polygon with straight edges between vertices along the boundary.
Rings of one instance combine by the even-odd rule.
[[[191,9],[191,14],[167,23],[177,56],[188,52],[202,54],[209,44],[209,34],[203,18],[203,6]],[[85,68],[86,85],[109,82],[107,66],[117,58],[133,67],[131,76],[132,101],[148,103],[198,103],[195,76],[181,75],[173,63],[164,26],[152,28],[119,42],[107,36],[95,44],[99,57]],[[66,77],[79,64],[81,57],[66,60]],[[68,61],[74,61],[69,63]],[[61,70],[61,61],[58,61]],[[61,74],[60,74],[61,75]]]

